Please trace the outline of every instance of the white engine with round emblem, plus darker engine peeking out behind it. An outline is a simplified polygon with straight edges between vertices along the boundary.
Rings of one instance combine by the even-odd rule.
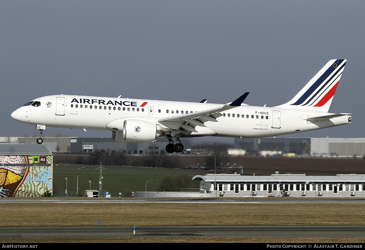
[[[148,121],[125,120],[123,132],[113,131],[114,141],[146,142],[161,136],[161,126]]]

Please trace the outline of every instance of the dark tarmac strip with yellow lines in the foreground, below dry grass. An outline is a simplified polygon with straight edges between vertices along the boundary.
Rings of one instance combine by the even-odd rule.
[[[0,238],[365,237],[364,226],[0,227]]]

